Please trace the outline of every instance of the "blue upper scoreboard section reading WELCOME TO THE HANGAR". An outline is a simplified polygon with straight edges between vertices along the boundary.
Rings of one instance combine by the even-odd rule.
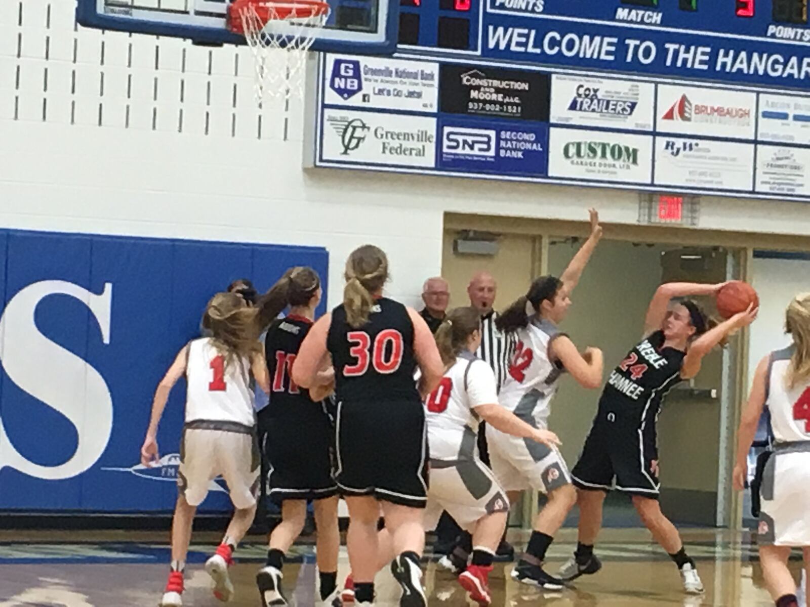
[[[399,0],[401,53],[810,88],[808,0]]]

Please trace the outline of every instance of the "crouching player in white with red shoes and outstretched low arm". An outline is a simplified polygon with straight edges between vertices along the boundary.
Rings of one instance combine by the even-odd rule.
[[[455,309],[437,331],[436,341],[447,371],[425,403],[430,450],[425,528],[436,528],[446,510],[472,533],[471,545],[460,547],[471,552],[471,561],[458,581],[479,605],[489,605],[488,572],[506,528],[509,502],[480,459],[478,422],[483,419],[490,427],[546,448],[558,440],[554,433],[535,428],[498,405],[492,367],[474,354],[481,342],[478,310]]]

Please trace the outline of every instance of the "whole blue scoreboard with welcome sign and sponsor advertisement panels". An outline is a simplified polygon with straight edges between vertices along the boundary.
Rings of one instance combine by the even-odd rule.
[[[309,166],[810,202],[808,0],[397,0]]]

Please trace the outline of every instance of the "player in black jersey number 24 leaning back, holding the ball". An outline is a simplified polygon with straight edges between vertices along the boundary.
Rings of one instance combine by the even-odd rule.
[[[602,525],[605,495],[617,489],[632,495],[642,522],[676,562],[686,592],[703,592],[694,561],[659,506],[655,422],[666,393],[696,376],[710,350],[757,316],[757,310],[748,309],[710,326],[693,301],[671,302],[690,295],[716,295],[723,284],[670,282],[655,291],[644,321],[645,337],[612,371],[571,473],[578,490],[579,542],[574,557],[561,567],[562,579],[575,579],[602,567],[593,554],[594,544]]]

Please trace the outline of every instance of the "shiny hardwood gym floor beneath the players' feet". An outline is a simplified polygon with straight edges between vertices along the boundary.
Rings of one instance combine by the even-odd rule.
[[[0,532],[0,607],[153,607],[160,600],[168,562],[167,537],[140,532]],[[525,541],[513,533],[517,545]],[[82,541],[77,541],[78,538]],[[597,546],[604,568],[598,575],[577,580],[563,592],[541,592],[517,584],[509,577],[511,564],[498,564],[492,573],[493,605],[554,605],[554,607],[644,607],[646,605],[744,605],[770,607],[762,586],[756,548],[748,535],[713,529],[684,531],[689,554],[697,561],[706,586],[703,596],[686,596],[680,578],[666,554],[641,529],[606,529]],[[209,592],[202,563],[218,537],[194,537],[186,570],[185,605],[220,605]],[[576,541],[574,529],[564,529],[549,554],[552,571],[568,558]],[[210,543],[204,543],[210,542]],[[237,551],[232,579],[237,596],[232,607],[261,605],[254,575],[265,554],[262,537],[248,537]],[[296,605],[316,605],[317,573],[313,547],[296,548],[298,562],[284,571],[284,584]],[[796,554],[796,557],[799,555]],[[791,562],[798,577],[800,562]],[[348,570],[345,549],[339,581]],[[468,605],[463,589],[452,575],[427,566],[430,605]],[[377,577],[377,603],[398,605],[394,579],[386,572]]]

